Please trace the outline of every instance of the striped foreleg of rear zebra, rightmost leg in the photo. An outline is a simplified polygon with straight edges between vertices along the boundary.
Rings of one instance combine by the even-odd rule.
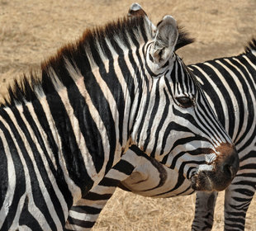
[[[246,212],[254,197],[255,182],[243,181],[242,185],[238,178],[225,190],[225,231],[244,230]]]

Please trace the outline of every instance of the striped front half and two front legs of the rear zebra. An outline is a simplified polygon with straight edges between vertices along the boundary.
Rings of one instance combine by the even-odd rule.
[[[239,171],[225,189],[224,229],[244,230],[256,190],[256,40],[250,40],[242,54],[190,68],[239,152]],[[209,87],[211,83],[214,87]],[[217,192],[197,192],[192,230],[211,230],[217,196]]]

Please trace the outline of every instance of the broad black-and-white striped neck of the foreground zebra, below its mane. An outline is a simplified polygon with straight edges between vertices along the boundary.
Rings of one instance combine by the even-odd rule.
[[[136,93],[143,85],[137,75],[143,67],[130,64],[129,55],[134,54],[102,59],[97,66],[90,64],[91,69],[81,68],[83,60],[78,65],[62,57],[61,69],[49,64],[36,87],[27,93],[17,87],[21,97],[13,94],[10,107],[0,108],[2,120],[13,130],[10,142],[19,140],[17,145],[23,145],[18,154],[45,159],[45,166],[38,165],[64,179],[61,184],[67,185],[73,201],[97,185],[128,148],[130,124],[136,118],[131,108],[136,99],[138,111],[140,97],[145,96],[141,89],[140,97]],[[64,82],[64,77],[69,81]],[[26,101],[16,102],[17,98]]]

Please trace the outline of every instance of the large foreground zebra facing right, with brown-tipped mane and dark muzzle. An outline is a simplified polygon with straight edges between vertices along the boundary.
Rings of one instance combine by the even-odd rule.
[[[63,230],[131,145],[167,167],[182,154],[194,189],[228,186],[238,155],[175,53],[190,42],[172,16],[125,17],[16,79],[0,106],[0,229]]]

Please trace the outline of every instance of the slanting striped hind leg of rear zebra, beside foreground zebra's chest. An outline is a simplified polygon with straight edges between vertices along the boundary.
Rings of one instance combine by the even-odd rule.
[[[128,153],[128,154],[127,154]],[[76,205],[69,210],[69,218],[65,224],[66,230],[86,231],[92,229],[100,212],[111,198],[120,181],[126,180],[135,169],[135,164],[140,163],[141,157],[128,150],[121,157],[121,161],[107,172],[106,177],[92,188],[86,196],[78,200]]]

